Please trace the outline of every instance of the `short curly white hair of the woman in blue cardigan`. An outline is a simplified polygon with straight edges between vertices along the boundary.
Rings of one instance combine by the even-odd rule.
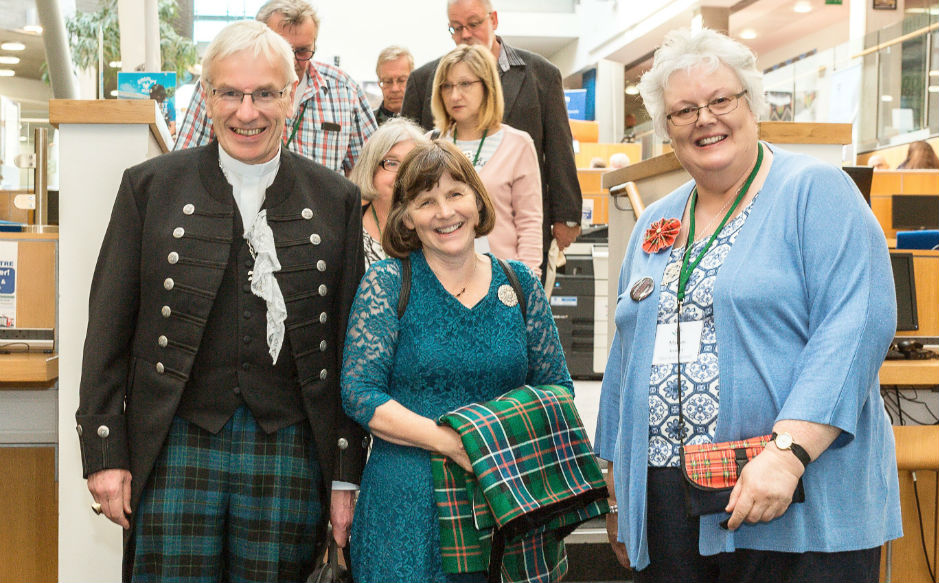
[[[676,71],[703,67],[707,72],[721,65],[729,67],[746,90],[747,103],[755,119],[766,111],[763,73],[756,67],[756,55],[745,45],[709,28],[698,31],[673,30],[655,51],[652,68],[639,81],[639,94],[652,118],[656,134],[668,138],[665,118],[665,88]]]

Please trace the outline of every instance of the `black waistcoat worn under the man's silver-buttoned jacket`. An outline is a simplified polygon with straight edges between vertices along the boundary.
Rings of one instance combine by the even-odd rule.
[[[254,259],[237,210],[232,229],[228,266],[176,414],[217,433],[238,407],[247,404],[261,428],[270,433],[306,415],[288,335],[277,364],[268,352],[267,304],[251,292]]]

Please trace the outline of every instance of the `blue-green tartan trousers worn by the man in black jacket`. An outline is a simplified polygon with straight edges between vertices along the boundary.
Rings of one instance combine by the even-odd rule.
[[[264,433],[242,406],[217,434],[173,420],[137,509],[134,581],[302,581],[322,488],[312,430]]]

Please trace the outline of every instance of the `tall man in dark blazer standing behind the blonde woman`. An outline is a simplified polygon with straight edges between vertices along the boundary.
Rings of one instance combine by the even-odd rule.
[[[561,72],[544,57],[509,46],[496,34],[499,14],[490,0],[447,0],[447,18],[455,44],[478,44],[492,52],[505,97],[502,121],[528,132],[535,143],[544,205],[544,273],[551,240],[557,240],[561,250],[574,242],[583,207]],[[430,103],[439,62],[436,59],[411,73],[401,108],[403,117],[427,130],[434,127]]]

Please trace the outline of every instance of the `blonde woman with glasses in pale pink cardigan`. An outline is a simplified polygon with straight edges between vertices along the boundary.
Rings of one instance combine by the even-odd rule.
[[[531,137],[502,123],[502,82],[488,50],[460,45],[437,66],[431,111],[442,138],[466,154],[496,209],[479,251],[517,259],[541,274],[541,171]]]

